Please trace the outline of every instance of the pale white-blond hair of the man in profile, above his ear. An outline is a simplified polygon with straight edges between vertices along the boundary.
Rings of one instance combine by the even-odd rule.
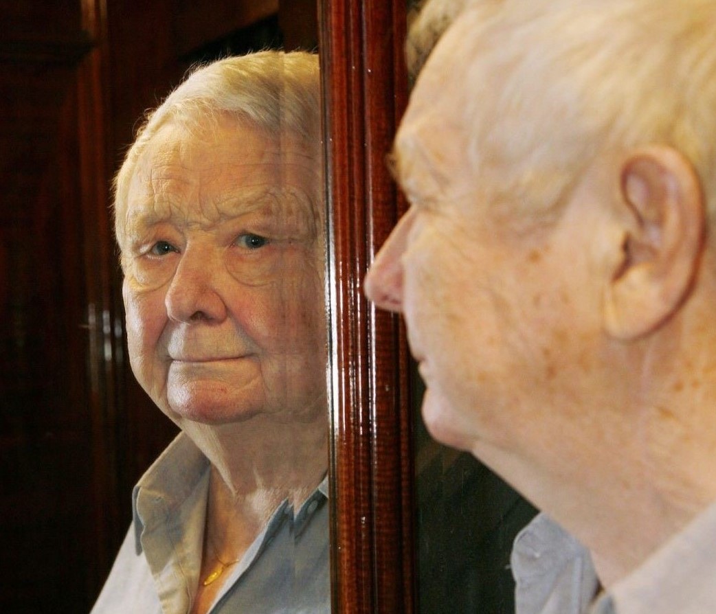
[[[716,214],[714,0],[505,0],[487,16],[493,0],[471,2],[453,26],[461,110],[470,162],[501,195],[547,212],[599,152],[662,144]]]

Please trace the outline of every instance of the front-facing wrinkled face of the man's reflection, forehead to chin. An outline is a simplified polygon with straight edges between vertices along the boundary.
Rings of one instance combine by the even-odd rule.
[[[127,337],[178,424],[324,411],[319,169],[298,139],[229,117],[169,123],[142,153],[118,212]]]

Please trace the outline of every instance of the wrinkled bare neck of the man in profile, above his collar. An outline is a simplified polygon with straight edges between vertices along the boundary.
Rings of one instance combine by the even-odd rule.
[[[716,370],[662,350],[682,364],[648,356],[638,378],[604,386],[552,425],[558,439],[529,442],[520,454],[473,450],[591,550],[606,588],[716,500]],[[629,369],[615,371],[624,380]],[[575,426],[575,416],[587,420]]]

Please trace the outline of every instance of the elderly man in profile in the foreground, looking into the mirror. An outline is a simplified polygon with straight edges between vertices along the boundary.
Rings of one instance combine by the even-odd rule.
[[[715,33],[712,0],[475,0],[398,131],[412,206],[367,294],[405,316],[432,434],[605,589],[540,585],[533,536],[518,612],[716,611]]]

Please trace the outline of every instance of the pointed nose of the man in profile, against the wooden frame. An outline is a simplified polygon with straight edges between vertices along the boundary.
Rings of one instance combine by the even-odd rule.
[[[403,268],[407,233],[412,225],[412,210],[403,215],[378,252],[364,281],[364,292],[379,308],[402,309]]]

